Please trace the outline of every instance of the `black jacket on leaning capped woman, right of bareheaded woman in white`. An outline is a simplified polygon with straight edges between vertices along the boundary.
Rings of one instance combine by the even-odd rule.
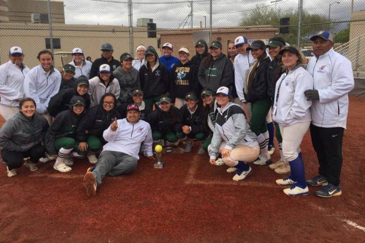
[[[80,94],[77,93],[77,86],[76,88],[60,90],[55,96],[53,96],[50,99],[47,108],[48,113],[51,116],[56,117],[57,114],[60,113],[61,111],[69,110],[70,100],[75,95],[80,96]],[[90,107],[90,95],[86,92],[81,97],[83,97],[85,100],[86,103],[85,110],[86,110]]]

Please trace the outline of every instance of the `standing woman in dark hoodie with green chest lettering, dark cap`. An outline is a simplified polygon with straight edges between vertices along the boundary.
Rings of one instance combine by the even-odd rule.
[[[218,41],[211,43],[210,54],[200,63],[199,83],[206,90],[217,90],[221,86],[231,87],[233,82],[233,65],[222,53],[222,44]]]

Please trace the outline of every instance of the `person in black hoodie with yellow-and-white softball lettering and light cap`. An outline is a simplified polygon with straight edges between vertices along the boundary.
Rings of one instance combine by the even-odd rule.
[[[195,65],[189,61],[189,50],[182,47],[178,51],[180,61],[172,67],[170,97],[178,109],[184,105],[184,98],[188,92],[199,91],[199,81],[196,79]],[[175,100],[175,101],[174,101]]]

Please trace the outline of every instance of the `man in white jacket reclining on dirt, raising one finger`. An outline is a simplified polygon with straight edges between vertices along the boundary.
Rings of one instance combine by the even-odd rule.
[[[105,175],[118,176],[132,173],[137,167],[139,151],[155,160],[152,151],[152,131],[150,124],[139,119],[138,105],[127,107],[127,118],[115,118],[103,133],[107,144],[100,153],[96,167],[90,167],[84,176],[84,186],[88,196],[96,194]]]

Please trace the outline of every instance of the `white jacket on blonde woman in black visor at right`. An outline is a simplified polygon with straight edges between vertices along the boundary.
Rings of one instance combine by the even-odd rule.
[[[312,87],[313,77],[300,65],[283,73],[276,82],[273,120],[282,127],[310,121],[312,102],[307,100],[304,91]]]

